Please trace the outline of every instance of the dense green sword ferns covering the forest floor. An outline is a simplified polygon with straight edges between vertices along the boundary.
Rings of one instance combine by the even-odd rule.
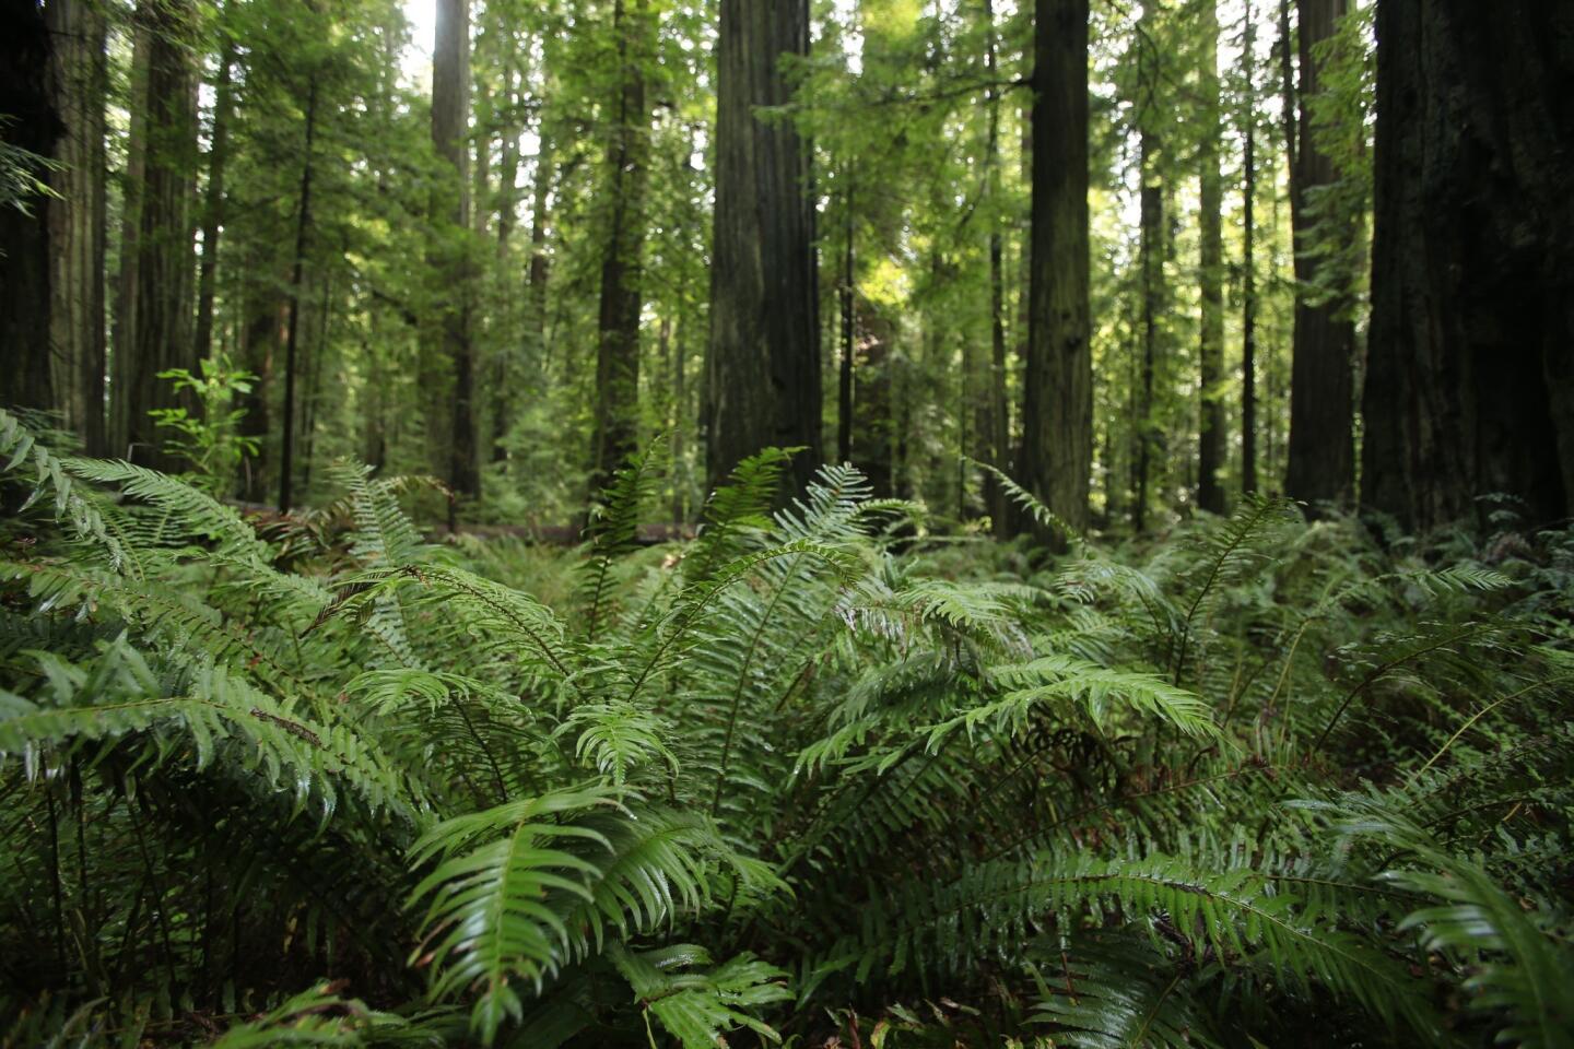
[[[1565,533],[1256,500],[1020,577],[852,467],[771,513],[768,451],[653,550],[648,456],[570,554],[348,466],[274,541],[0,442],[35,1043],[1566,1044]]]

